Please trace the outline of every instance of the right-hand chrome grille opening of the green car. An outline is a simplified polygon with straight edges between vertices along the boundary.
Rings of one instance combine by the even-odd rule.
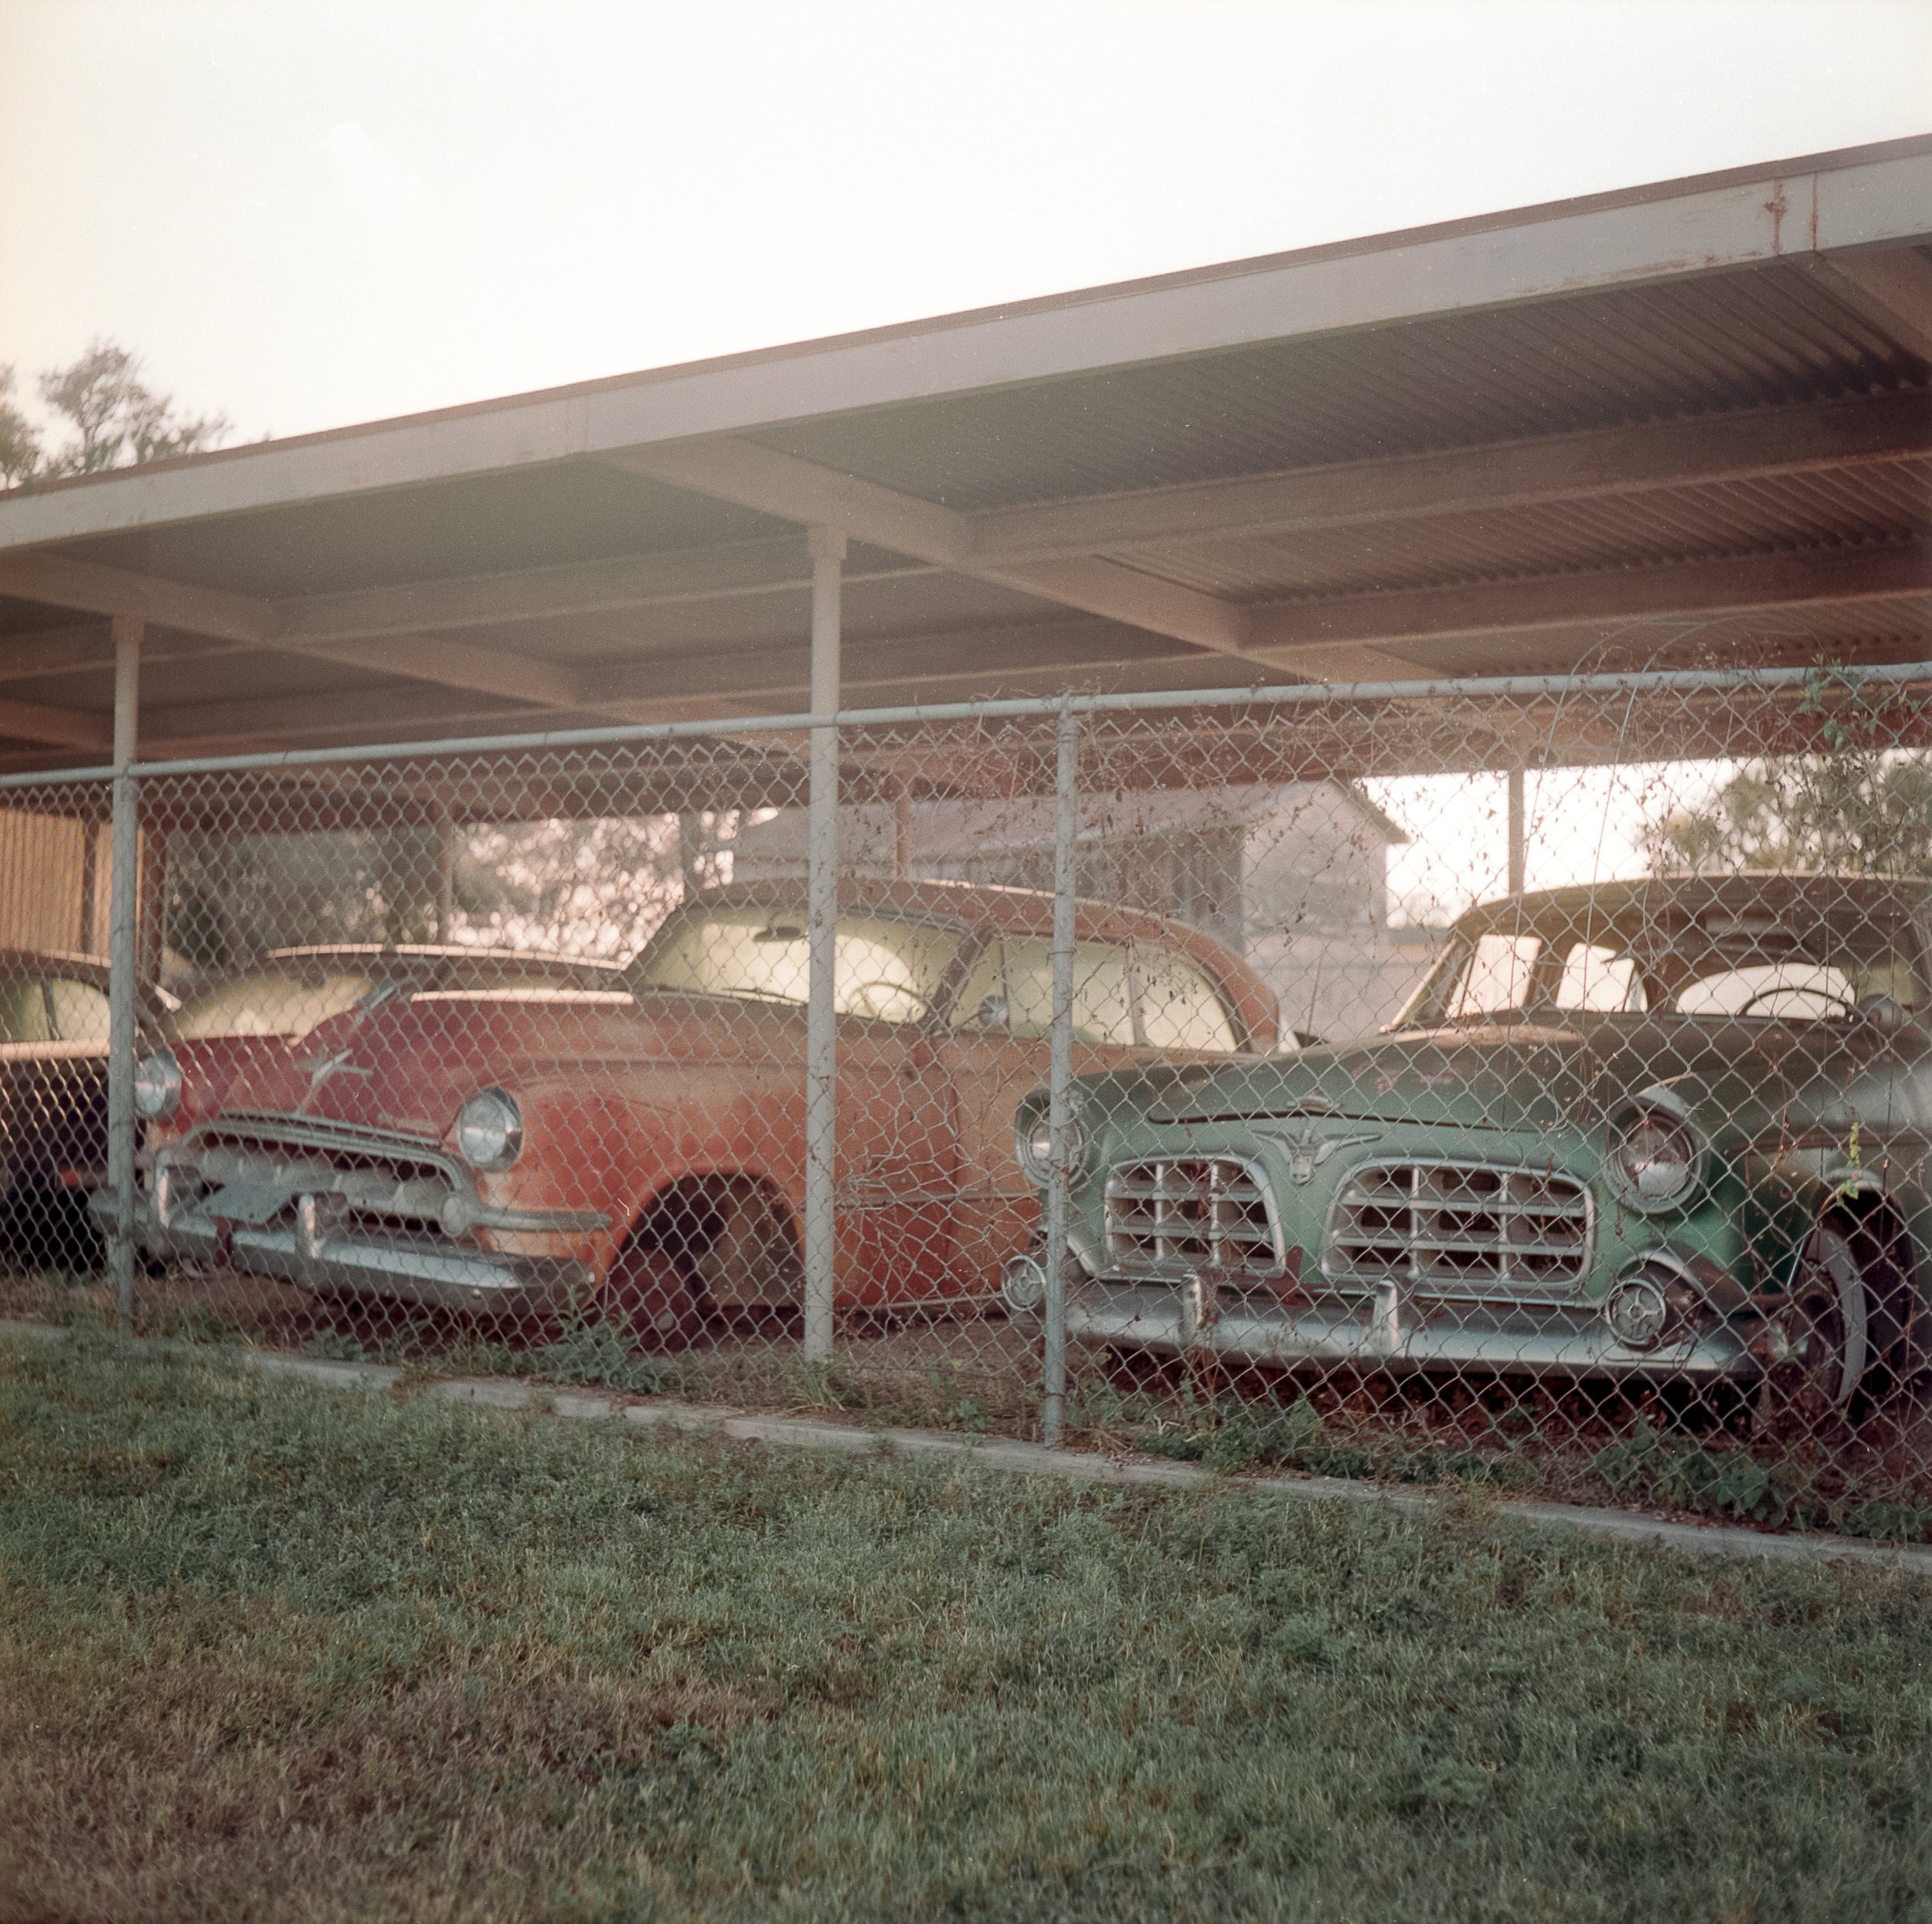
[[[1329,1207],[1321,1273],[1432,1296],[1569,1294],[1590,1267],[1590,1190],[1505,1163],[1374,1161]]]

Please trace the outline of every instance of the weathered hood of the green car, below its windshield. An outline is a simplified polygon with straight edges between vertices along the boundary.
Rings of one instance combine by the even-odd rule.
[[[1669,1086],[1712,1122],[1824,1111],[1880,1059],[1924,1057],[1922,1032],[1876,1024],[1582,1018],[1410,1030],[1188,1074],[1155,1122],[1335,1115],[1499,1130],[1588,1130],[1627,1095]]]

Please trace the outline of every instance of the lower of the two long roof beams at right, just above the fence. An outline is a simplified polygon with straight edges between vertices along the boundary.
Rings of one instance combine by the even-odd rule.
[[[1932,595],[1932,543],[1915,541],[1275,603],[1248,612],[1248,645],[1267,661],[1298,668],[1302,657],[1339,643],[1399,649],[1453,636],[1922,595]]]

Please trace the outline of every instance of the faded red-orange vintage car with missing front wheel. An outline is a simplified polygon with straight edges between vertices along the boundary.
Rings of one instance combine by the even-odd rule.
[[[1012,1109],[1045,1070],[1049,896],[852,885],[837,933],[840,1300],[985,1296],[1034,1229]],[[1078,914],[1084,1068],[1275,1045],[1211,937]],[[800,1292],[806,914],[696,896],[612,991],[427,991],[240,1070],[139,1070],[145,1246],[311,1290],[481,1312],[599,1308],[676,1341]]]

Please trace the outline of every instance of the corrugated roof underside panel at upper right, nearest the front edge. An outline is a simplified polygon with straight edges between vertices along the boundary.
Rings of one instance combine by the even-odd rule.
[[[1291,340],[761,439],[951,508],[1789,406],[1932,369],[1779,263]]]

